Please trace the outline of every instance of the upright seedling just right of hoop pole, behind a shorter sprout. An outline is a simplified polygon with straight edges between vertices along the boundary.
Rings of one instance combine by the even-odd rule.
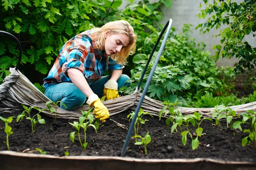
[[[137,136],[137,135],[138,135],[139,128],[141,127],[141,125],[142,125],[142,124],[145,124],[145,122],[148,121],[147,119],[142,119],[143,115],[146,115],[146,114],[152,116],[150,113],[144,112],[143,109],[140,108],[140,111],[139,111],[138,116],[137,116],[137,118],[136,118],[136,121],[135,121],[135,123],[134,123],[134,136]],[[133,119],[134,115],[135,115],[135,112],[134,112],[134,111],[132,111],[132,113],[130,113],[129,115],[127,115],[127,118],[130,117],[129,121],[130,121],[131,119]],[[153,116],[152,116],[152,117],[153,117]],[[137,141],[136,137],[135,137],[135,141]]]

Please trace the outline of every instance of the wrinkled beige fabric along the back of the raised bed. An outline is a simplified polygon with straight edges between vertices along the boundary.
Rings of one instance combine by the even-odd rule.
[[[45,103],[50,99],[47,98],[41,91],[38,90],[20,71],[15,68],[10,68],[11,74],[3,80],[0,85],[0,113],[11,112],[22,108],[21,104],[28,106],[35,106],[38,108],[47,108]],[[141,98],[141,93],[135,91],[133,94],[122,96],[116,99],[108,100],[103,104],[108,108],[110,116],[126,111],[128,109],[136,110],[137,105]],[[151,99],[145,96],[141,108],[144,111],[158,116],[159,111],[163,109],[160,101]],[[256,102],[247,103],[244,105],[231,106],[236,114],[246,112],[248,110],[256,111]],[[81,106],[74,111],[66,111],[64,109],[57,109],[58,118],[78,119],[81,116],[81,111],[87,111],[89,106]],[[203,114],[204,116],[211,117],[211,111],[215,108],[184,108],[179,107],[180,113],[193,114],[195,111]],[[51,116],[49,111],[44,111],[45,114]]]

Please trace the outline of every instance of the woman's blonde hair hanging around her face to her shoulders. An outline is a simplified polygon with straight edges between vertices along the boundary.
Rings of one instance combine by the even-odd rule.
[[[125,64],[126,59],[129,55],[135,53],[136,50],[136,38],[137,35],[134,34],[134,29],[125,20],[117,20],[106,23],[101,28],[93,28],[92,40],[97,41],[97,48],[104,50],[105,48],[105,32],[110,30],[110,34],[125,34],[129,37],[129,44],[122,48],[119,53],[111,55],[111,58],[116,60],[118,64]]]

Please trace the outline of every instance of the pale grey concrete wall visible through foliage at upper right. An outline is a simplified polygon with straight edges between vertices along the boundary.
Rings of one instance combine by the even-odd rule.
[[[151,3],[156,2],[157,0],[151,0]],[[242,0],[237,0],[237,3]],[[199,3],[202,2],[203,7],[199,8]],[[129,1],[123,1],[121,8],[124,8]],[[213,28],[209,33],[200,34],[199,29],[195,30],[194,28],[199,23],[204,23],[205,20],[208,19],[199,19],[196,15],[200,12],[201,9],[204,9],[204,2],[202,0],[172,0],[172,6],[167,8],[166,6],[161,7],[162,12],[164,14],[161,23],[165,24],[170,18],[173,20],[172,26],[176,28],[176,33],[182,32],[183,25],[186,23],[192,24],[193,34],[192,37],[195,38],[196,42],[203,41],[207,46],[206,50],[210,51],[213,55],[215,50],[212,49],[213,45],[220,43],[220,37],[213,37],[218,34],[220,30],[216,30]],[[225,28],[225,27],[224,27]],[[245,41],[249,42],[250,45],[256,46],[255,37],[247,36],[244,38]],[[228,58],[220,58],[217,61],[218,66],[230,66],[233,67],[235,62],[238,60],[233,57],[231,59]]]

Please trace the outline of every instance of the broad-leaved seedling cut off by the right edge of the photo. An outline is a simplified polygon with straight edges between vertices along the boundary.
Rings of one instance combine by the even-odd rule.
[[[241,124],[250,125],[249,128],[244,129],[243,133],[249,133],[242,139],[242,146],[247,145],[254,141],[254,147],[256,148],[256,112],[247,111],[248,113],[241,113],[243,116],[242,121],[236,121],[233,124],[233,128],[239,129],[242,131]],[[248,141],[249,139],[249,141]]]

